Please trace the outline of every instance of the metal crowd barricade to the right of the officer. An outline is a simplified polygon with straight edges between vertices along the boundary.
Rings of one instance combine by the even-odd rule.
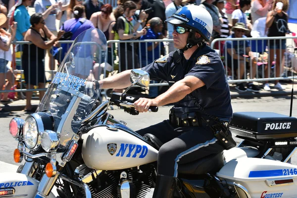
[[[222,39],[215,39],[212,41],[211,43],[211,48],[215,49],[214,46],[216,44],[218,44],[218,49],[217,52],[219,53],[221,59],[223,59],[223,64],[225,66],[225,72],[226,75],[228,76],[228,82],[229,83],[239,83],[239,82],[252,82],[252,81],[271,81],[271,80],[287,80],[287,79],[292,79],[293,76],[288,76],[288,72],[287,72],[287,67],[285,68],[284,72],[282,72],[282,69],[280,68],[280,73],[279,76],[280,77],[276,77],[276,55],[279,55],[281,58],[279,60],[279,66],[282,67],[282,58],[283,56],[285,56],[285,62],[288,62],[287,60],[287,54],[290,53],[294,53],[294,46],[297,45],[297,43],[294,41],[294,39],[296,40],[297,37],[294,36],[290,36],[290,37],[260,37],[260,38],[222,38]],[[270,42],[269,41],[273,41],[273,48],[270,49]],[[286,40],[286,48],[285,50],[285,54],[283,55],[281,52],[281,49],[279,50],[279,54],[275,54],[273,57],[273,61],[270,60],[269,58],[269,54],[271,52],[271,50],[274,51],[274,53],[276,53],[276,42],[280,43],[280,48],[281,47],[281,41],[282,40]],[[221,45],[221,41],[224,41],[225,44],[222,48]],[[239,80],[236,79],[236,76],[240,75],[240,61],[237,61],[238,65],[234,65],[236,63],[236,60],[238,59],[234,59],[234,54],[229,54],[231,56],[231,59],[229,60],[229,64],[228,64],[228,52],[227,52],[227,45],[226,42],[227,41],[231,41],[231,49],[234,49],[233,42],[237,42],[237,46],[238,48],[235,49],[237,54],[246,54],[246,42],[245,41],[250,41],[249,45],[250,45],[250,51],[255,52],[254,55],[256,55],[255,60],[249,60],[249,63],[247,63],[248,57],[244,58],[244,77]],[[244,41],[243,42],[243,46],[240,45],[240,41]],[[221,50],[223,49],[223,50]],[[292,50],[293,49],[293,50]],[[233,50],[232,50],[233,51]],[[247,55],[247,54],[246,54]],[[257,55],[261,55],[260,57]],[[267,56],[267,61],[264,60],[264,56]],[[230,57],[229,56],[229,57]],[[234,63],[235,60],[235,63]],[[252,64],[256,64],[256,71],[252,71]],[[231,62],[231,65],[230,65]],[[248,64],[248,65],[247,65]],[[273,68],[271,68],[271,66],[273,66]],[[234,67],[238,66],[238,69],[235,70]],[[265,66],[267,66],[268,69],[268,75],[265,77]],[[285,65],[288,66],[288,65]],[[296,65],[295,65],[296,66]],[[254,78],[247,78],[247,69],[249,69],[249,74],[252,72],[256,72],[256,75]],[[289,68],[290,69],[290,68]],[[284,75],[285,74],[285,75]]]

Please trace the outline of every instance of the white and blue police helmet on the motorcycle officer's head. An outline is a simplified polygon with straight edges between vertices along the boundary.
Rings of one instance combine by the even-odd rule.
[[[186,5],[178,9],[165,22],[172,25],[182,25],[189,28],[189,37],[185,49],[192,48],[195,45],[202,45],[205,41],[209,41],[213,29],[212,17],[209,12],[198,5]],[[195,32],[198,32],[201,37],[195,37]]]

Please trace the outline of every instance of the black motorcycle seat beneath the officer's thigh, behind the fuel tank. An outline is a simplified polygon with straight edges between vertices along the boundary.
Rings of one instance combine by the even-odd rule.
[[[157,150],[163,145],[163,143],[152,134],[145,134],[145,137],[149,138],[150,142]],[[216,173],[224,166],[223,152],[207,155],[203,158],[195,161],[179,164],[178,173],[187,175],[201,175],[205,173]]]

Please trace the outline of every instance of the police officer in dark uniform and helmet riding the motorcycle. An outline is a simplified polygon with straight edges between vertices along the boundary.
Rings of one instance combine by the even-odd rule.
[[[140,98],[135,109],[174,103],[169,120],[137,131],[150,133],[162,143],[157,158],[157,180],[153,198],[172,198],[178,165],[219,153],[223,146],[215,138],[213,118],[230,121],[232,106],[225,70],[218,54],[206,46],[212,33],[212,18],[204,8],[187,5],[166,22],[174,25],[173,42],[178,50],[142,68],[151,80],[165,80],[169,90],[155,99]],[[124,88],[130,71],[106,78],[103,88]]]

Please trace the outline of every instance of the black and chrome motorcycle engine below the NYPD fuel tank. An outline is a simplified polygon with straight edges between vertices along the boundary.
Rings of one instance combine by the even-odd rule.
[[[81,170],[80,175],[84,175],[88,169],[89,168],[84,168],[84,170]],[[131,181],[133,183],[132,185],[134,185],[132,189],[135,189],[135,198],[145,198],[150,192],[150,188],[153,184],[153,178],[150,176],[150,171],[142,172],[137,170],[137,168],[121,171],[92,170],[92,172],[85,175],[82,180],[88,184],[92,198],[121,198],[120,184],[121,181],[123,181],[123,178],[121,178],[123,171],[127,174],[124,179]],[[83,193],[83,196],[84,195],[85,194]]]

